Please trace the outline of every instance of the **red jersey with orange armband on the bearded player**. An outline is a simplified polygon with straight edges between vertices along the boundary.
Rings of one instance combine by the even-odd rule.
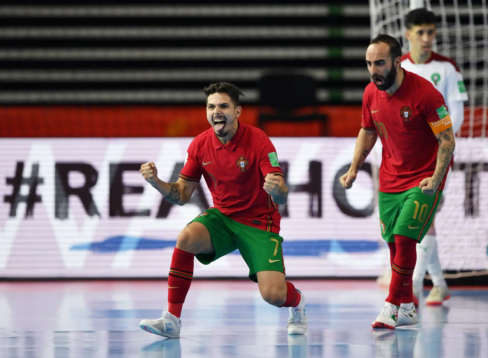
[[[391,96],[371,82],[363,95],[366,130],[376,129],[383,144],[380,191],[418,187],[434,174],[439,142],[435,134],[452,126],[441,93],[426,79],[406,70]],[[447,174],[447,172],[446,172]],[[444,177],[439,189],[444,189]]]

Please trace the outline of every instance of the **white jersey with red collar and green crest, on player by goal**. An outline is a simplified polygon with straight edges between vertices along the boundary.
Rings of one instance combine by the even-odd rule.
[[[402,67],[430,81],[446,102],[468,101],[463,76],[453,60],[432,52],[426,63],[413,63],[408,53],[402,56]]]

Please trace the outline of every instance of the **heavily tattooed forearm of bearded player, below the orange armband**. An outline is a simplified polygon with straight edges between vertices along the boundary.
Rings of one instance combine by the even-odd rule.
[[[434,195],[439,188],[439,185],[446,175],[447,167],[451,162],[452,153],[456,142],[454,140],[454,132],[452,127],[443,130],[435,135],[439,142],[439,149],[437,150],[437,163],[435,165],[434,174],[430,178],[425,178],[420,182],[419,188],[427,195]]]

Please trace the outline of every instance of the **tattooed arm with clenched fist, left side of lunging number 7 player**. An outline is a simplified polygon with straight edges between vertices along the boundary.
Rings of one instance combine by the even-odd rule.
[[[172,204],[185,205],[191,198],[199,182],[178,178],[176,183],[166,183],[158,178],[158,169],[153,162],[144,163],[139,169],[144,179],[158,190]]]

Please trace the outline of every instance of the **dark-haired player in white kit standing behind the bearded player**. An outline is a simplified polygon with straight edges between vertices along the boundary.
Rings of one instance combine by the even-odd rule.
[[[456,133],[463,125],[463,102],[468,100],[468,95],[463,76],[456,63],[432,51],[432,44],[436,36],[436,17],[431,11],[421,8],[410,11],[405,22],[407,25],[406,38],[410,41],[410,52],[402,57],[402,67],[424,77],[441,92],[449,108],[452,129]],[[434,285],[426,298],[426,304],[442,304],[450,295],[437,253],[434,222],[422,243],[417,245],[417,263],[412,278],[414,296],[417,298],[422,292],[426,271]],[[418,299],[416,301],[415,303],[418,305]]]

